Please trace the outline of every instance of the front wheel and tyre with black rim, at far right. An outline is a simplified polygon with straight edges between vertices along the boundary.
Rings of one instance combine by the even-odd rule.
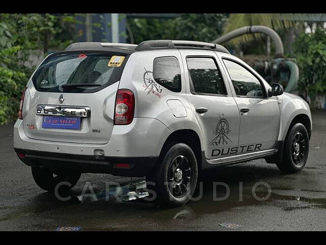
[[[309,153],[309,135],[301,123],[293,125],[284,141],[283,160],[277,167],[284,174],[301,171],[307,162]]]

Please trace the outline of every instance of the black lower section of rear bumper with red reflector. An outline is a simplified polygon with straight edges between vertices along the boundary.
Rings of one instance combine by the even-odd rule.
[[[156,164],[158,156],[107,157],[74,155],[16,149],[19,159],[28,166],[50,170],[70,170],[80,173],[112,174],[116,176],[143,177]],[[22,157],[23,156],[23,157]]]

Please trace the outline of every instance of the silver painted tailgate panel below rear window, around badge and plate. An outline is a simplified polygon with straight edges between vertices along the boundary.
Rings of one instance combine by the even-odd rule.
[[[33,139],[73,143],[108,142],[113,130],[114,104],[118,85],[117,82],[96,93],[63,93],[65,98],[63,104],[59,103],[60,93],[39,92],[32,85],[26,90],[24,100],[30,101],[30,103],[24,103],[26,106],[23,110],[23,127],[26,136]],[[88,117],[80,117],[80,129],[43,128],[43,120],[56,119],[60,114],[39,115],[36,109],[40,105],[55,105],[58,109],[60,107],[88,107],[90,113]],[[72,118],[75,117],[72,116]]]

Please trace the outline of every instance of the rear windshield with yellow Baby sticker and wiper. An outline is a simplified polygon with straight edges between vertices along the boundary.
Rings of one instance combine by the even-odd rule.
[[[127,55],[108,52],[49,56],[32,80],[38,91],[92,93],[120,80]]]

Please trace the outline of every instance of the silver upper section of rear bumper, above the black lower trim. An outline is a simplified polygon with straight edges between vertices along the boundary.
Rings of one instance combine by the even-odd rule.
[[[85,137],[83,143],[29,138],[23,125],[28,122],[18,119],[14,125],[14,148],[39,152],[93,156],[98,151],[108,157],[158,156],[171,134],[167,126],[155,118],[133,118],[129,125],[115,125],[110,139],[105,144],[92,144]],[[26,129],[36,130],[36,129]],[[69,137],[67,136],[67,139]]]

